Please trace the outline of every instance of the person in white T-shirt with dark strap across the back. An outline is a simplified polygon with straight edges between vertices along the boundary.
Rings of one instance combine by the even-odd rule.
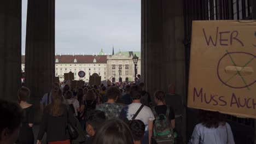
[[[141,104],[141,91],[137,85],[131,86],[132,104],[125,106],[119,115],[120,119],[124,121],[130,121],[133,119],[139,119],[145,124],[145,131],[141,140],[142,144],[151,143],[151,137],[153,134],[153,121],[155,119],[154,114],[150,107]]]

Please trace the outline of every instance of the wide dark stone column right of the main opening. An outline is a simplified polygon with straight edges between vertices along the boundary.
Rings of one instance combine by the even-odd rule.
[[[167,92],[174,83],[186,104],[183,19],[183,1],[142,0],[141,76],[152,99],[155,91]],[[185,116],[184,107],[184,140]]]

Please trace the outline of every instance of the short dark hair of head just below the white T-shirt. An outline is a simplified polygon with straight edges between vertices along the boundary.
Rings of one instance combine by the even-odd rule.
[[[145,132],[145,124],[141,120],[135,119],[128,121],[128,126],[131,129],[133,140],[140,141]]]

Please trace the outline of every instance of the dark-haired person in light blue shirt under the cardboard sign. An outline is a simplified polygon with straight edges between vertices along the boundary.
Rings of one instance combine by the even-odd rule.
[[[219,112],[200,110],[199,121],[189,144],[235,143],[230,125],[222,119]]]

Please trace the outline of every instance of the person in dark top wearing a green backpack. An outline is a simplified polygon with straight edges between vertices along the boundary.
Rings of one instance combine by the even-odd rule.
[[[175,115],[172,107],[165,105],[165,93],[156,91],[154,100],[157,104],[153,107],[155,116],[153,141],[154,143],[174,143],[173,129],[175,128]]]

